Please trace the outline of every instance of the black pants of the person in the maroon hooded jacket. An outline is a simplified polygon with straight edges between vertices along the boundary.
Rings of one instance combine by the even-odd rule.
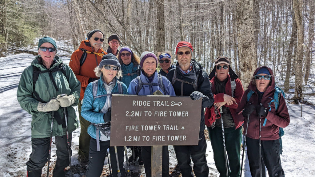
[[[252,177],[259,177],[259,140],[246,137],[247,157]],[[280,160],[280,142],[278,140],[261,140],[262,177],[284,177]]]

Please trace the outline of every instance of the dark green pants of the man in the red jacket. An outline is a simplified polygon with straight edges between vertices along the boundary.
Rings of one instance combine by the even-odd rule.
[[[209,131],[209,137],[211,140],[215,167],[219,171],[220,176],[227,176],[225,170],[222,128],[211,128],[207,126],[207,129]],[[224,128],[224,137],[228,158],[228,167],[230,167],[228,170],[230,173],[229,176],[239,177],[241,171],[240,154],[242,127],[239,127],[238,129],[235,129],[235,127]]]

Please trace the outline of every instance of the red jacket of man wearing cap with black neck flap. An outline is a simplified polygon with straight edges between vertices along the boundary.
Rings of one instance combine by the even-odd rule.
[[[223,98],[224,94],[228,94],[228,95],[232,96],[231,78],[230,78],[230,75],[227,75],[227,77],[228,77],[228,80],[227,80],[226,85],[225,85],[225,92],[219,93],[219,94],[215,94],[215,77],[213,77],[210,80],[211,91],[214,94],[215,103],[224,101],[224,98]],[[235,123],[235,128],[239,128],[240,126],[242,126],[243,121],[238,121],[238,119],[236,118],[236,116],[237,116],[236,108],[238,107],[239,101],[241,100],[241,97],[244,93],[244,89],[243,89],[243,85],[242,85],[241,81],[238,78],[235,80],[235,83],[236,83],[236,88],[234,90],[234,97],[233,98],[236,100],[237,104],[233,103],[232,105],[229,105],[229,106],[224,105],[224,106],[226,106],[230,109],[234,123]],[[215,120],[215,117],[214,117],[215,114],[213,113],[213,111],[214,111],[213,106],[211,108],[206,109],[204,123],[208,127],[211,126],[211,120]]]

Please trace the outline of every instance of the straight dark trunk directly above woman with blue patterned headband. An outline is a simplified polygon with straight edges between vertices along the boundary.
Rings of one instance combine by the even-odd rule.
[[[156,0],[155,7],[157,9],[157,31],[156,31],[156,51],[155,52],[162,52],[165,50],[165,29],[164,29],[164,0]]]

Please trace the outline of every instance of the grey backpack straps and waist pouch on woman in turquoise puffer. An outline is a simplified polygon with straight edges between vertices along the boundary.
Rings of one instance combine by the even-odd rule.
[[[108,96],[112,94],[123,94],[123,88],[121,86],[121,82],[117,80],[117,86],[118,86],[118,92],[111,93],[111,94],[103,94],[103,95],[98,95],[97,94],[97,89],[98,89],[98,80],[93,81],[92,83],[92,90],[93,90],[93,99],[95,100],[96,98],[100,98],[103,96]],[[93,101],[94,101],[93,100]],[[97,151],[100,151],[100,137],[98,134],[98,130],[100,130],[106,137],[111,136],[111,123],[91,123],[96,128],[96,147]]]

